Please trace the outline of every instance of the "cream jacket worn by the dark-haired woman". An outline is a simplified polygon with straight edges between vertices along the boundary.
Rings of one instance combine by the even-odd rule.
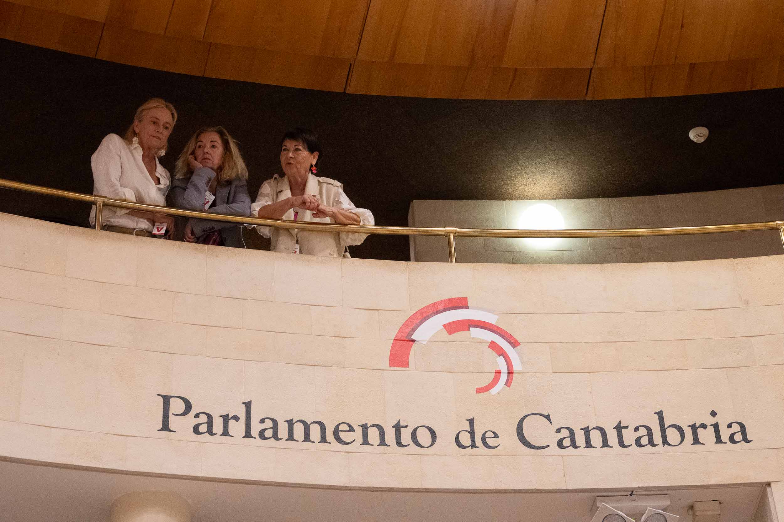
[[[360,224],[375,224],[372,213],[366,208],[357,208],[354,203],[343,192],[343,184],[329,178],[320,178],[309,174],[305,185],[305,194],[316,196],[321,205],[340,208],[347,212],[353,212],[359,216]],[[251,205],[251,216],[258,216],[259,208],[270,205],[285,198],[291,198],[292,191],[289,187],[289,178],[279,177],[277,174],[272,179],[267,179],[259,189],[256,202]],[[289,210],[283,215],[282,219],[294,219],[294,210]],[[331,218],[314,218],[310,210],[300,210],[297,214],[297,221],[312,221],[315,223],[335,223]],[[299,240],[299,252],[310,254],[311,256],[331,256],[342,257],[346,247],[350,245],[360,245],[365,241],[368,234],[356,233],[335,233],[329,232],[305,232],[303,230],[281,229],[274,227],[256,227],[259,234],[264,237],[272,238],[271,250],[274,252],[289,252],[294,249],[294,245]]]

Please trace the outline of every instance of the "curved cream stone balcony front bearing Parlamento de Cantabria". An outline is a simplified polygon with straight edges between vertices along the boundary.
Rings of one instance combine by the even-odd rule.
[[[451,265],[0,230],[2,459],[344,488],[784,479],[784,256]],[[452,298],[519,342],[499,393],[469,332],[390,366]]]

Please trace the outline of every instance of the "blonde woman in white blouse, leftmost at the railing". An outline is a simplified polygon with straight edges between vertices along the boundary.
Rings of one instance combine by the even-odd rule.
[[[177,111],[160,98],[147,100],[136,111],[124,137],[103,138],[91,158],[93,194],[150,205],[166,205],[171,176],[158,162],[165,154]],[[90,223],[95,226],[95,208]],[[165,214],[103,207],[101,228],[122,234],[151,236],[154,223],[165,223],[168,236],[174,219]]]

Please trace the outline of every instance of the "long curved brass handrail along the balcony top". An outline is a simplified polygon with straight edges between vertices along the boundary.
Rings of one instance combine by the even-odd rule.
[[[784,220],[764,221],[760,223],[731,223],[726,225],[705,225],[701,227],[653,227],[653,228],[589,228],[568,230],[522,230],[503,228],[455,228],[455,227],[380,227],[377,225],[338,225],[333,223],[310,223],[289,221],[286,219],[261,219],[249,216],[226,216],[211,214],[182,208],[146,205],[118,199],[105,198],[94,194],[80,194],[70,190],[40,187],[30,183],[21,183],[0,178],[0,187],[22,190],[33,194],[56,196],[73,201],[83,201],[96,205],[96,228],[100,230],[101,216],[104,206],[128,208],[157,212],[169,216],[182,216],[212,221],[227,221],[243,225],[261,225],[263,227],[296,228],[317,232],[359,232],[361,234],[382,235],[413,235],[413,236],[445,236],[448,241],[449,260],[456,263],[455,237],[637,237],[637,236],[677,236],[689,234],[718,234],[723,232],[743,232],[749,230],[779,230],[784,246]]]

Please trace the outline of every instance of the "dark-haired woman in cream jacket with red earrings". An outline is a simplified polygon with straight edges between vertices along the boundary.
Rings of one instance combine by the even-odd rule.
[[[372,213],[355,207],[343,192],[342,183],[314,176],[320,153],[315,132],[299,127],[286,132],[281,140],[281,167],[285,176],[276,174],[262,184],[256,202],[251,205],[251,215],[341,225],[374,224]],[[264,237],[271,235],[271,249],[275,252],[312,256],[347,256],[347,246],[359,245],[368,237],[368,234],[273,227],[256,227],[256,230]]]

